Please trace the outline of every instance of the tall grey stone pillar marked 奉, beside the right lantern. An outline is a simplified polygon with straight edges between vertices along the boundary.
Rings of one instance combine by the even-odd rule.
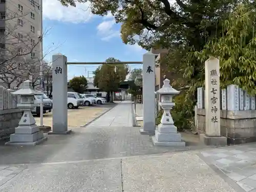
[[[143,129],[141,134],[155,135],[155,54],[143,55]]]

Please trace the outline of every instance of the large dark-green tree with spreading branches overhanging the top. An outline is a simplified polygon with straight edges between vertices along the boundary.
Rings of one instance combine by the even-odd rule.
[[[175,0],[172,4],[168,0],[59,1],[65,6],[89,2],[93,14],[101,16],[110,12],[116,22],[121,23],[125,44],[137,42],[147,50],[151,47],[172,49],[178,58],[168,65],[182,74],[189,69],[188,83],[204,76],[202,63],[189,54],[190,50],[201,51],[209,40],[220,37],[223,22],[238,2],[241,3],[238,0]]]

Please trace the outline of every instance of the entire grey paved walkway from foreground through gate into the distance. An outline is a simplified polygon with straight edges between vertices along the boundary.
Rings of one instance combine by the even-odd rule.
[[[129,125],[131,112],[125,111],[129,106],[131,111],[131,105],[122,102],[108,112],[110,115],[100,117],[99,122],[106,120],[106,126],[94,124],[70,135],[50,135],[36,146],[0,146],[0,191],[255,192],[251,172],[256,144],[202,152],[188,151],[194,149],[189,146],[154,146],[151,137],[139,134],[140,127],[122,126],[116,119],[121,110],[128,116],[124,124]],[[242,159],[230,163],[235,158]],[[234,177],[238,173],[235,167],[241,163],[247,163],[251,172],[241,166],[246,175]]]

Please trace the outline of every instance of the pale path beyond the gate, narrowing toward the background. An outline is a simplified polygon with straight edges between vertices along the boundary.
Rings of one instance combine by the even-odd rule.
[[[132,126],[132,102],[119,102],[115,108],[90,123],[89,126]]]

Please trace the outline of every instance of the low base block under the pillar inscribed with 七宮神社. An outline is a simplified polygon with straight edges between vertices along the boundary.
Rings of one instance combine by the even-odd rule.
[[[207,145],[207,146],[226,146],[227,145],[227,138],[220,136],[220,137],[209,137],[205,134],[199,135],[200,142]]]

